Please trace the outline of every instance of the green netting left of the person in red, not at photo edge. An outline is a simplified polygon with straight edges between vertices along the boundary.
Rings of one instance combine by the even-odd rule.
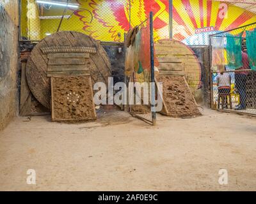
[[[238,69],[243,66],[242,63],[242,34],[233,36],[227,34],[227,62],[228,68]]]

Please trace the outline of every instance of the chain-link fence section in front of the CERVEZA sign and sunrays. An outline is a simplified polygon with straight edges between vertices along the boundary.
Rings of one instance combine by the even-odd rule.
[[[256,22],[250,3],[238,1],[173,1],[173,38],[186,45],[209,45],[209,35]]]

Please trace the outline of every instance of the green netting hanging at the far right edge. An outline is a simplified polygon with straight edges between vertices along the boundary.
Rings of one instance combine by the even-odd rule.
[[[256,70],[256,29],[254,31],[246,31],[246,47],[250,68]]]

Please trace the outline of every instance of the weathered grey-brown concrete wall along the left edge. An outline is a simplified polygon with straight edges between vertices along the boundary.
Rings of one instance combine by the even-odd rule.
[[[18,1],[0,0],[0,130],[18,110],[18,25]]]

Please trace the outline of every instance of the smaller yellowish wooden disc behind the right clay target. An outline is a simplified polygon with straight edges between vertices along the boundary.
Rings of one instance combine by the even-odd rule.
[[[184,63],[185,77],[191,91],[194,93],[200,89],[202,70],[200,62],[191,50],[184,43],[177,40],[159,40],[155,44],[157,57],[173,57]]]

